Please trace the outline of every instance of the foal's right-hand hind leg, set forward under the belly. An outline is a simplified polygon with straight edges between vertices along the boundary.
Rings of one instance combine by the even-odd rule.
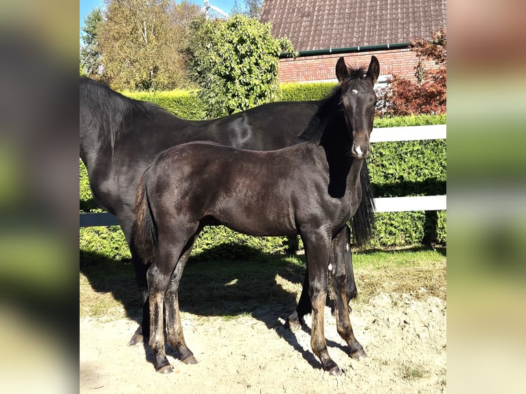
[[[197,360],[194,357],[194,354],[185,343],[185,337],[183,336],[183,326],[181,325],[181,312],[179,311],[179,282],[181,281],[181,276],[183,275],[183,269],[185,264],[190,257],[190,252],[192,251],[192,244],[195,237],[192,237],[192,240],[188,242],[190,245],[187,250],[183,253],[179,262],[175,266],[174,273],[170,278],[170,284],[168,285],[168,290],[166,291],[165,296],[165,314],[166,314],[166,333],[168,335],[168,343],[175,347],[176,351],[179,353],[181,361],[185,364],[196,364]]]

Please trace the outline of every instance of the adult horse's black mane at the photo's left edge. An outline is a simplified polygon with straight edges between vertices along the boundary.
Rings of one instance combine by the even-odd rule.
[[[109,139],[112,151],[125,123],[129,123],[134,115],[148,116],[156,109],[165,111],[155,104],[130,99],[101,82],[80,78],[80,116],[95,123],[95,127],[102,131],[99,137]]]

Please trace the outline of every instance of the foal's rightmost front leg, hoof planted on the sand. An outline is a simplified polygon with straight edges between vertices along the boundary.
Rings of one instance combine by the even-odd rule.
[[[341,231],[334,240],[332,240],[332,253],[334,253],[335,258],[334,262],[336,264],[332,268],[332,283],[334,284],[334,292],[336,297],[334,299],[334,307],[336,310],[336,327],[338,334],[341,338],[345,340],[347,345],[350,348],[350,356],[352,358],[363,358],[367,356],[363,350],[362,345],[358,343],[358,340],[354,337],[354,332],[352,331],[352,325],[349,318],[349,306],[347,305],[347,279],[346,275],[346,264],[345,261],[338,256],[343,256],[342,248],[345,248],[347,245],[347,235],[345,229]]]

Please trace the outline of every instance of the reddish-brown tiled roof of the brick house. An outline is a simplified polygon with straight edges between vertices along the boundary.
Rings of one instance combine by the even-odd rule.
[[[407,43],[446,27],[446,0],[264,0],[260,21],[297,51]]]

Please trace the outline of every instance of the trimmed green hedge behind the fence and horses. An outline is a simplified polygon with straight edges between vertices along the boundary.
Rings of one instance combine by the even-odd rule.
[[[282,84],[281,100],[321,100],[334,83]],[[204,104],[190,91],[124,92],[137,100],[154,102],[185,119],[204,119]],[[377,118],[374,127],[446,124],[446,115],[417,115]],[[446,194],[446,142],[442,140],[374,143],[368,159],[371,183],[376,197],[433,196]],[[98,209],[80,163],[80,209]],[[102,242],[101,242],[102,241]],[[422,243],[446,244],[446,211],[377,213],[374,238],[369,247],[409,246]],[[95,255],[129,258],[128,247],[119,227],[80,229],[82,258]],[[196,240],[194,257],[243,257],[248,250],[263,253],[284,251],[283,237],[249,237],[226,227],[207,227]]]

